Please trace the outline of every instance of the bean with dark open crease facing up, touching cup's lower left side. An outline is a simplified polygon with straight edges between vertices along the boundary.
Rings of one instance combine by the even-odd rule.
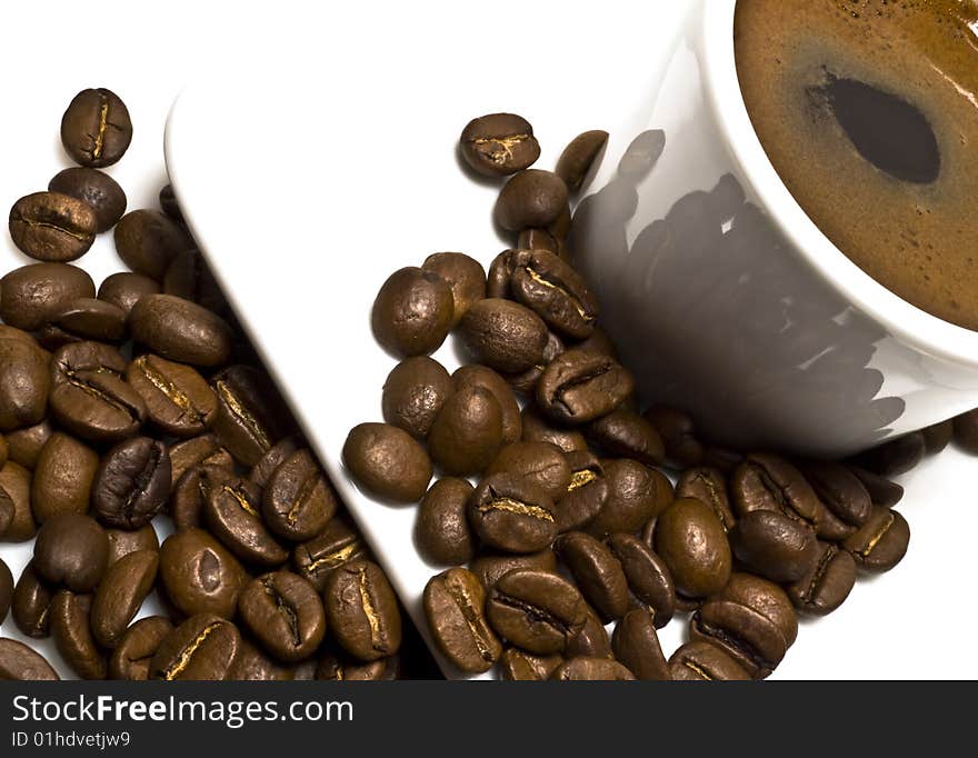
[[[606,356],[567,350],[550,361],[537,383],[543,412],[563,423],[610,413],[635,389],[631,373]]]

